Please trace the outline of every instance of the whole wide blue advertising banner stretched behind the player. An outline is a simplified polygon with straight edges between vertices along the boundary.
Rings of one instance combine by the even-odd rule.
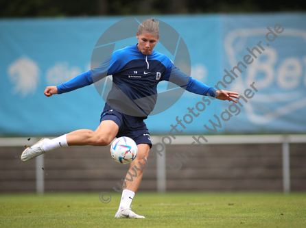
[[[97,40],[122,19],[0,20],[0,136],[95,130],[105,101],[94,85],[49,98],[43,91],[89,71]],[[220,89],[226,86],[244,98],[231,105],[185,92],[165,112],[145,120],[151,134],[168,134],[180,119],[185,124],[179,129],[183,134],[305,133],[306,25],[300,23],[305,14],[156,19],[173,27],[185,42],[191,77]],[[115,49],[136,44],[136,31],[137,27],[134,37],[114,40]],[[176,55],[161,43],[155,50],[172,60]],[[224,77],[224,70],[230,75]],[[165,82],[158,85],[159,92],[166,88]]]

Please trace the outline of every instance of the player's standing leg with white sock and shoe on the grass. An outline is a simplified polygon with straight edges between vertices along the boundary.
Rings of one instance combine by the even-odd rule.
[[[143,170],[148,161],[149,151],[149,144],[138,144],[137,157],[130,163],[130,168],[125,179],[126,188],[123,188],[119,209],[115,214],[115,218],[145,218],[145,216],[140,216],[132,212],[130,205],[141,183]]]

